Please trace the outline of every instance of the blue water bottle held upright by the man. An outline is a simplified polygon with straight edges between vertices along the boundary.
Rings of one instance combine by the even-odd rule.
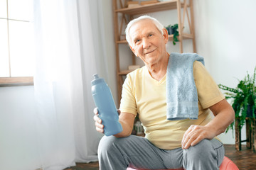
[[[104,125],[105,135],[110,136],[122,132],[122,125],[118,121],[119,115],[109,86],[97,74],[94,74],[93,77],[95,79],[91,81],[92,97],[97,106],[102,125]]]

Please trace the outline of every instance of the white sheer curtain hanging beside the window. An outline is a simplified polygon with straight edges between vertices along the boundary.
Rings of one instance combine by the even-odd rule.
[[[34,84],[43,169],[97,160],[102,135],[92,118],[90,81],[96,72],[107,73],[107,62],[97,64],[105,50],[94,45],[92,26],[100,22],[92,23],[90,15],[101,11],[99,6],[100,1],[34,0]]]

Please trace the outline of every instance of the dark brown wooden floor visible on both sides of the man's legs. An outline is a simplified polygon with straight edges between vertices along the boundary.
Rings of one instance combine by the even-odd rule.
[[[241,151],[235,150],[235,145],[225,145],[225,156],[231,159],[240,170],[256,170],[256,153],[242,145]],[[65,170],[98,170],[98,162],[77,164]]]

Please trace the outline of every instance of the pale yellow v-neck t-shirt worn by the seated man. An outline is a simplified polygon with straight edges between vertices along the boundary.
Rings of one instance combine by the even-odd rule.
[[[146,67],[127,74],[122,89],[120,111],[139,114],[145,137],[161,149],[181,147],[184,132],[190,125],[206,125],[211,119],[208,109],[225,97],[201,62],[194,62],[193,77],[198,91],[198,119],[166,119],[166,75],[161,81],[151,77]]]

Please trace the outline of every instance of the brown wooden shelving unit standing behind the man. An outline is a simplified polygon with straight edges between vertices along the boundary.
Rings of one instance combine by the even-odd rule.
[[[124,28],[127,23],[131,21],[136,15],[149,14],[160,11],[176,10],[178,13],[178,44],[180,52],[183,52],[183,40],[191,39],[193,44],[193,52],[196,52],[196,41],[193,26],[193,0],[170,0],[159,2],[156,4],[148,4],[144,6],[136,6],[133,8],[127,8],[127,0],[112,0],[114,6],[114,36],[115,36],[115,49],[116,49],[116,64],[117,64],[117,93],[118,101],[121,99],[123,77],[131,72],[130,70],[120,70],[119,62],[119,45],[127,44],[124,40]],[[188,11],[188,8],[190,10]],[[182,10],[183,9],[183,10]],[[119,19],[121,16],[121,21]],[[188,21],[189,33],[183,32],[183,26],[185,18]],[[173,40],[174,36],[169,35],[169,40]],[[128,48],[128,46],[127,46]],[[132,64],[136,64],[135,56],[132,56]]]

